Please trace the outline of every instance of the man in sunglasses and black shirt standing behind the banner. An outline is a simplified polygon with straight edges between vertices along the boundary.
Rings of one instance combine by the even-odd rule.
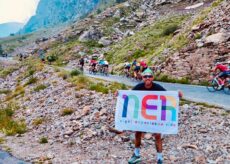
[[[166,91],[161,85],[153,82],[153,72],[147,68],[142,73],[143,83],[137,84],[133,90],[142,90],[142,91]],[[182,92],[179,92],[179,97],[182,97]],[[157,133],[155,135],[155,145],[157,150],[157,164],[163,163],[162,155],[162,140],[161,134]],[[141,161],[140,157],[140,146],[141,146],[141,136],[142,132],[135,132],[135,149],[133,156],[129,159],[129,164],[139,163]]]

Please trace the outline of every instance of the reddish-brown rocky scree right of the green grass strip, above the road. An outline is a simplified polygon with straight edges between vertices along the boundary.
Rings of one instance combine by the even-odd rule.
[[[230,3],[225,1],[199,18],[204,20],[186,35],[189,44],[173,55],[169,54],[162,64],[163,73],[200,83],[208,78],[214,62],[230,61]]]

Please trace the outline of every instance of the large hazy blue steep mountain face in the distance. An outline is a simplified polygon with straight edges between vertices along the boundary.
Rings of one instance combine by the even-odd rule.
[[[76,21],[90,13],[99,0],[40,0],[36,15],[25,25],[22,33]]]

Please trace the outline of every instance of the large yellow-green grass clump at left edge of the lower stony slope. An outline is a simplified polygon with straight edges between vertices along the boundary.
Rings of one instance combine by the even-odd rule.
[[[26,124],[24,121],[16,121],[13,119],[15,111],[13,105],[0,109],[0,131],[6,135],[23,134],[26,132]]]

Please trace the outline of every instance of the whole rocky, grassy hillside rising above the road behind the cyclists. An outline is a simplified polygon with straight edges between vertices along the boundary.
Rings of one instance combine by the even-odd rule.
[[[55,65],[104,54],[116,72],[125,61],[145,59],[158,70],[158,80],[202,84],[214,61],[229,59],[228,16],[227,0],[129,0],[44,33],[14,54],[44,49],[57,58]]]

